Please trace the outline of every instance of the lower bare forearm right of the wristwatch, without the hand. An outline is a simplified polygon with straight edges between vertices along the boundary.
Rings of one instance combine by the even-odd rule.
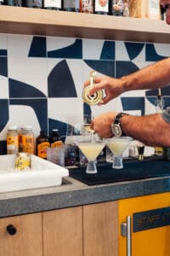
[[[160,113],[140,116],[126,116],[121,119],[122,131],[146,145],[170,147],[170,124]]]

